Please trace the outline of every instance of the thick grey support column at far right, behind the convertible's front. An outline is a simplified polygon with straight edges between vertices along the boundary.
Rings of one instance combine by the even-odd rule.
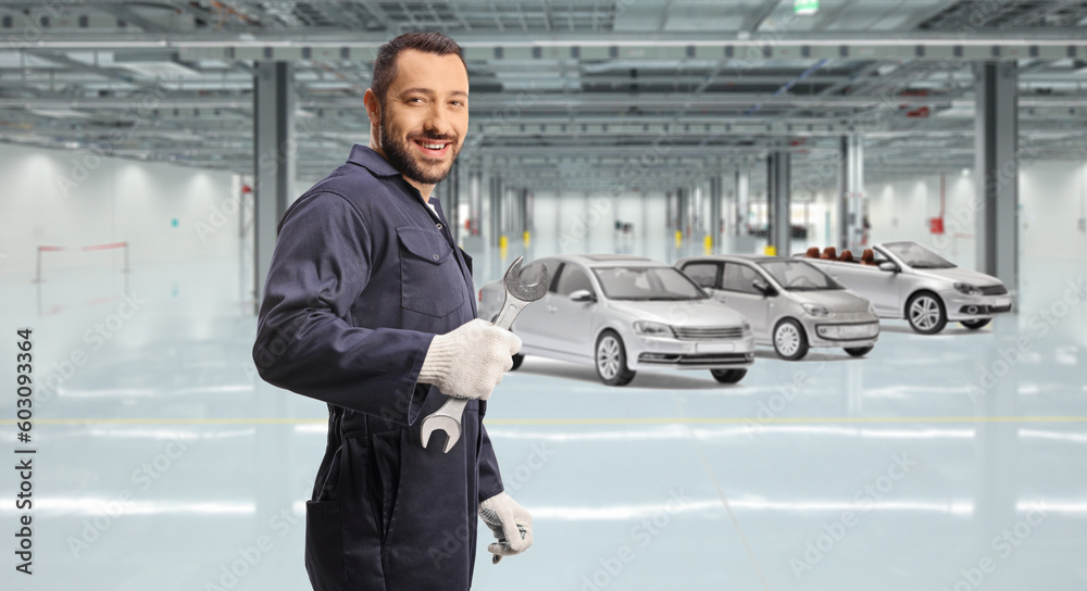
[[[974,183],[977,271],[1019,290],[1019,74],[1015,63],[976,66]]]

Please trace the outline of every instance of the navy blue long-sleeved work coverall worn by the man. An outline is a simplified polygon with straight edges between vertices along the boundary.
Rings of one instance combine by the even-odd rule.
[[[279,222],[253,359],[328,403],[305,517],[315,591],[471,586],[478,503],[503,490],[486,402],[468,403],[449,453],[440,435],[423,449],[422,417],[447,397],[416,379],[434,335],[476,316],[474,294],[440,204],[365,146]]]

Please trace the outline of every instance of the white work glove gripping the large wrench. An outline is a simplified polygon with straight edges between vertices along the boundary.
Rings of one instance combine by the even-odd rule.
[[[433,383],[457,398],[487,400],[513,368],[521,338],[476,318],[430,341],[418,373],[418,381]]]

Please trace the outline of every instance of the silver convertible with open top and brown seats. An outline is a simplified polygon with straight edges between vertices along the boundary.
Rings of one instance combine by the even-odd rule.
[[[944,260],[916,242],[885,242],[836,256],[812,247],[808,261],[857,293],[872,300],[882,318],[905,318],[915,331],[935,335],[947,323],[977,330],[996,314],[1010,312],[1012,297],[996,277]]]

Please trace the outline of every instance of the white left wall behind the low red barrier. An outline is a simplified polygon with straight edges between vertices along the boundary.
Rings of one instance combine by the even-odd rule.
[[[238,252],[238,215],[229,212],[239,181],[230,173],[0,144],[0,275],[32,278],[38,246],[127,241],[133,266]],[[43,274],[120,268],[122,256],[49,252]]]

